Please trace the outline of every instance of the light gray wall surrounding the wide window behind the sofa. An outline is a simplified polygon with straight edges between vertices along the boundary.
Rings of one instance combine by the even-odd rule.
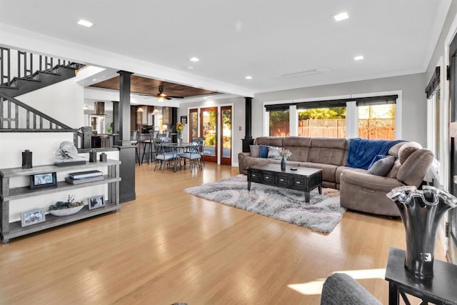
[[[311,77],[311,76],[310,76]],[[264,92],[256,94],[252,107],[252,134],[256,138],[263,136],[262,116],[263,102],[286,101],[292,99],[315,99],[328,96],[346,96],[349,94],[371,94],[383,91],[402,92],[402,139],[416,141],[422,146],[427,144],[426,136],[426,95],[423,86],[425,74],[370,79],[367,81],[351,81],[348,83],[325,86],[304,87],[299,89]]]

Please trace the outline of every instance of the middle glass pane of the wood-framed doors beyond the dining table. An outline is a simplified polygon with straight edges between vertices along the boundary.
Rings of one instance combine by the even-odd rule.
[[[217,108],[200,109],[201,136],[205,138],[204,161],[217,163]]]

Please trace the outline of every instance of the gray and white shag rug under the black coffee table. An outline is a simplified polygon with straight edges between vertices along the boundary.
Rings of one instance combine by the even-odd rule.
[[[323,233],[330,233],[346,211],[340,206],[336,189],[323,189],[322,195],[313,190],[310,201],[305,203],[303,191],[256,183],[248,191],[245,175],[194,186],[184,192]]]

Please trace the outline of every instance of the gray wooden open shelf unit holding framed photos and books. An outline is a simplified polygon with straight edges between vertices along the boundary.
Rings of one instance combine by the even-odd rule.
[[[119,211],[121,206],[119,204],[119,165],[121,161],[108,160],[106,162],[86,162],[86,164],[80,164],[76,166],[54,166],[44,165],[35,166],[32,169],[0,169],[0,180],[1,180],[1,240],[6,244],[9,239],[31,234],[37,231],[52,228],[54,226],[61,226],[62,224],[69,224],[73,221],[86,219],[91,216],[108,213],[110,211]],[[88,181],[81,184],[69,184],[66,181],[59,181],[56,186],[50,186],[43,189],[30,189],[29,186],[11,188],[9,186],[9,179],[15,177],[24,177],[34,174],[44,174],[49,172],[59,171],[81,171],[91,169],[94,167],[107,166],[108,174],[104,175],[104,179],[97,181]],[[32,224],[31,226],[21,226],[21,221],[9,222],[9,201],[15,199],[23,199],[32,196],[39,196],[44,194],[52,194],[58,191],[66,191],[69,189],[81,189],[88,186],[95,186],[100,184],[108,184],[109,201],[106,201],[106,206],[99,209],[89,210],[87,206],[84,206],[81,211],[76,214],[69,216],[53,216],[46,214],[46,221],[39,224]]]

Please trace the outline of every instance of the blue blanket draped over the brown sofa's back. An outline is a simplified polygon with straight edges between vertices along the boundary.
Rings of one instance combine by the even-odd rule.
[[[388,150],[402,140],[368,140],[354,138],[349,139],[348,160],[346,166],[355,167],[357,169],[368,169],[371,161],[377,155],[386,155]]]

